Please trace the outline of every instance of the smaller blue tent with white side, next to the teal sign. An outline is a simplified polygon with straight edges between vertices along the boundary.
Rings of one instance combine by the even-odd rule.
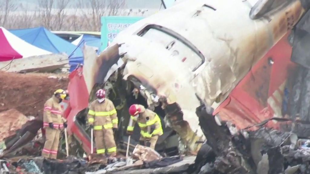
[[[83,42],[83,43],[82,43]],[[81,49],[84,45],[84,43],[87,46],[94,46],[98,48],[97,53],[100,54],[101,51],[101,39],[92,35],[88,34],[82,34],[79,38],[77,38],[75,41],[71,42],[73,45],[79,46]]]

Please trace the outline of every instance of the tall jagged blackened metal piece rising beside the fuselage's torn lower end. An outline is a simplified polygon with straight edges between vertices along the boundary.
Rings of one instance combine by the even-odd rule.
[[[226,125],[216,124],[214,116],[207,114],[203,105],[197,108],[199,122],[207,144],[212,147],[216,158],[215,170],[221,173],[254,173],[255,165],[248,158],[250,154],[245,139],[241,136],[232,137]]]

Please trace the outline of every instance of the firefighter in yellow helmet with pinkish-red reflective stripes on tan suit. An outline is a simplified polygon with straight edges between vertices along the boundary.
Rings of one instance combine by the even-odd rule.
[[[62,117],[60,102],[68,97],[66,91],[58,89],[44,104],[43,128],[46,141],[42,150],[43,157],[57,158],[60,130],[67,127],[67,121]]]

